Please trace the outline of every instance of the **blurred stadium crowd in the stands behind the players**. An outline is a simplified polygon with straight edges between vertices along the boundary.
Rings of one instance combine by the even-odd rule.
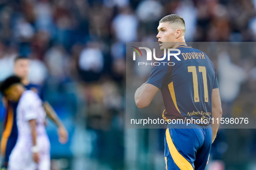
[[[185,19],[186,41],[256,41],[256,0],[0,1],[0,81],[12,74],[17,54],[29,56],[31,82],[44,85],[69,132],[61,145],[48,123],[52,169],[164,168],[165,130],[125,128],[125,48],[157,41],[159,19],[171,13]],[[224,116],[255,116],[256,56],[227,56],[221,67],[220,57],[211,58]],[[255,129],[220,129],[208,169],[256,169],[255,136]]]

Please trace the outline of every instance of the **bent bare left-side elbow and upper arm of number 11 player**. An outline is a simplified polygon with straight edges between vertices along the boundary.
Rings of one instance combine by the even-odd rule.
[[[137,107],[139,107],[140,109],[147,107],[153,100],[157,91],[159,91],[159,88],[152,84],[144,83],[143,85],[141,85],[136,90],[134,95],[134,100]]]

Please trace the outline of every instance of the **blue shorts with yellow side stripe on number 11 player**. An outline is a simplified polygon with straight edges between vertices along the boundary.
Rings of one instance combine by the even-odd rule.
[[[169,124],[165,132],[165,169],[204,170],[211,142],[211,125]]]

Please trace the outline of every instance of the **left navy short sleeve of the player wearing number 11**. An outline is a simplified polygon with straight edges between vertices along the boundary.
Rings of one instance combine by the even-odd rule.
[[[166,64],[167,65],[167,64]],[[156,66],[151,69],[151,73],[149,75],[149,79],[146,83],[152,84],[157,88],[161,88],[164,82],[165,76],[168,72],[168,66],[161,67]]]

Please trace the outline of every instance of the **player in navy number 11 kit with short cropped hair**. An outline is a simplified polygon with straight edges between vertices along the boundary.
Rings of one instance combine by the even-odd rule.
[[[219,127],[211,120],[222,116],[216,70],[204,52],[187,46],[182,17],[165,16],[157,29],[160,49],[179,49],[180,61],[165,57],[161,62],[175,64],[154,66],[147,82],[136,90],[135,102],[139,108],[147,107],[160,89],[165,104],[162,117],[168,124],[165,169],[204,170]],[[186,123],[174,123],[178,119]]]

